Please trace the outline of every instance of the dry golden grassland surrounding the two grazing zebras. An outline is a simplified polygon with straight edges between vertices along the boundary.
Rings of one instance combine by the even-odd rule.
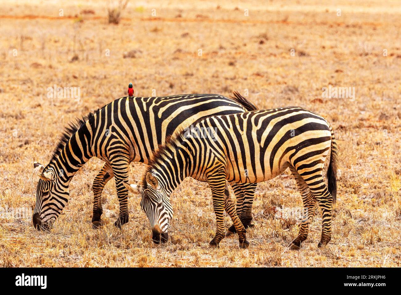
[[[118,25],[107,23],[105,1],[13,2],[3,1],[0,10],[1,267],[400,266],[397,1],[147,1],[130,3]],[[103,191],[105,225],[93,230],[91,183],[103,165],[99,159],[75,175],[51,232],[36,231],[30,216],[7,214],[33,208],[33,162],[47,165],[63,126],[124,96],[130,82],[136,96],[248,91],[259,108],[303,106],[327,118],[341,153],[330,244],[317,248],[316,208],[301,250],[286,248],[298,225],[275,218],[274,210],[302,206],[289,171],[259,184],[247,250],[238,249],[235,236],[209,248],[211,192],[193,179],[171,195],[168,244],[153,244],[136,195],[129,199],[130,222],[113,227],[114,180]],[[49,98],[53,85],[80,87],[79,101]],[[355,87],[354,98],[322,97],[329,85]],[[139,183],[144,170],[133,163],[130,182]]]

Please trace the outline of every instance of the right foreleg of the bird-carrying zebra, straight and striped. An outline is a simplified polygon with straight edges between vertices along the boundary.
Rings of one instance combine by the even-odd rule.
[[[119,215],[114,226],[121,228],[123,224],[128,222],[128,189],[123,183],[128,181],[130,158],[128,153],[122,154],[122,151],[119,151],[117,155],[110,156],[109,159],[115,177],[115,187],[119,202]]]

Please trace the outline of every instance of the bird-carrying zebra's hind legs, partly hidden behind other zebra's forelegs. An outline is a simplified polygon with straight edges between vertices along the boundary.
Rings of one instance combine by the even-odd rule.
[[[252,224],[252,204],[257,183],[230,183],[237,199],[237,215],[245,229],[255,226]],[[226,232],[226,237],[237,233],[232,225]]]

